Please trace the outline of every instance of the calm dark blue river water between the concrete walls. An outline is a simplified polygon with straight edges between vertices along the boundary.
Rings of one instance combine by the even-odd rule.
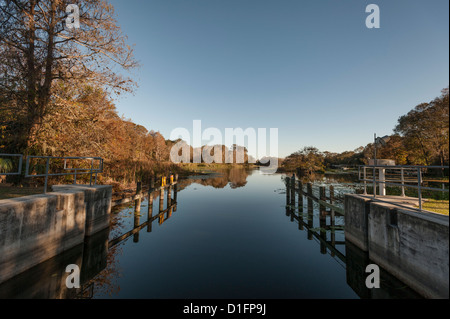
[[[235,168],[211,178],[182,180],[175,209],[147,224],[147,200],[137,215],[132,206],[114,208],[110,230],[0,286],[0,297],[419,297],[383,270],[381,288],[368,289],[365,269],[371,262],[367,254],[345,241],[344,217],[336,216],[334,227],[324,228],[317,204],[309,210],[306,200],[303,210],[287,206],[283,178]],[[332,177],[319,178],[316,183],[341,185],[338,194],[354,191],[348,187],[351,183]],[[156,198],[151,216],[157,216],[158,209]],[[330,225],[329,216],[325,223]],[[143,225],[139,232],[111,244],[137,225]],[[76,259],[79,254],[82,257]],[[63,280],[61,269],[70,258],[82,264],[84,291],[71,295],[63,288],[49,292],[55,284],[43,288],[49,278]]]

